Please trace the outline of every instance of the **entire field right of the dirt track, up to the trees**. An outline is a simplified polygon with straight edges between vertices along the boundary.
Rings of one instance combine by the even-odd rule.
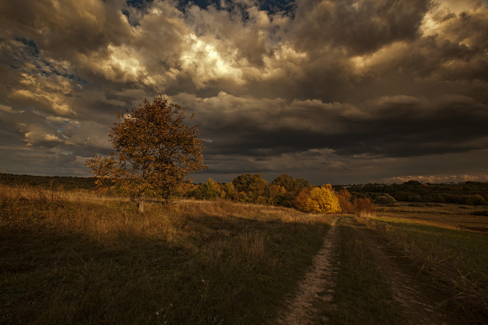
[[[482,209],[399,204],[379,209],[366,223],[390,249],[450,292],[446,310],[479,320],[488,317],[488,217],[473,215]]]

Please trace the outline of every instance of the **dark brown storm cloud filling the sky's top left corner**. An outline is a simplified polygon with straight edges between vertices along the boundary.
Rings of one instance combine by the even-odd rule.
[[[122,2],[122,1],[119,1]],[[6,36],[32,38],[55,57],[87,55],[129,36],[116,1],[4,1]]]

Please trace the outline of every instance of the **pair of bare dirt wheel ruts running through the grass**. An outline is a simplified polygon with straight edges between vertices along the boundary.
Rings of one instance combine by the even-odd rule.
[[[314,301],[323,300],[330,309],[335,308],[332,298],[338,269],[333,267],[333,262],[338,256],[340,241],[343,240],[337,226],[340,219],[338,217],[332,223],[322,249],[313,260],[313,266],[299,284],[297,295],[289,300],[288,308],[276,320],[278,324],[328,324],[327,319],[321,318],[320,310],[315,309]],[[405,266],[398,263],[395,256],[389,256],[384,246],[358,228],[352,219],[348,221],[349,226],[356,229],[358,237],[373,253],[376,268],[383,275],[393,299],[402,306],[401,324],[457,324],[446,318],[436,307],[440,301],[432,300],[431,296],[426,295],[425,288],[409,272],[404,271]]]

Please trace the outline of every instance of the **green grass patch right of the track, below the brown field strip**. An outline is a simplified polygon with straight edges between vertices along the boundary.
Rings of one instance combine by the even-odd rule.
[[[394,217],[375,218],[371,228],[451,292],[446,309],[472,314],[474,321],[488,317],[488,235]]]

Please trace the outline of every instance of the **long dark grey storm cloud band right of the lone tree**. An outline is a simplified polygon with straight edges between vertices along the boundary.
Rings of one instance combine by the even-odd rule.
[[[198,103],[194,109],[202,136],[212,141],[205,149],[209,154],[259,157],[326,148],[340,155],[406,157],[488,145],[488,107],[465,96],[435,101],[385,96],[363,106],[317,100],[287,105],[283,100],[243,100],[223,93],[186,100],[191,108],[192,102]]]

